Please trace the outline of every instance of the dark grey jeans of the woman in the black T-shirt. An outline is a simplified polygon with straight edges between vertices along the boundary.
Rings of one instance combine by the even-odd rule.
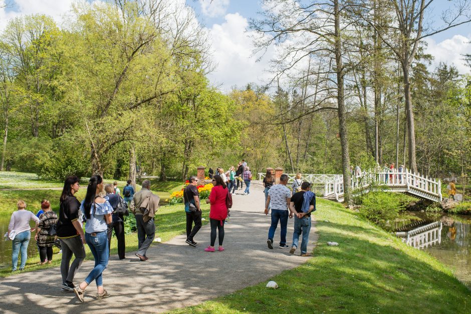
[[[85,247],[82,242],[80,235],[72,238],[59,239],[61,241],[62,248],[62,260],[61,260],[61,275],[62,283],[66,281],[74,281],[75,273],[79,269],[80,265],[85,258]],[[72,254],[75,255],[75,259],[70,264]]]

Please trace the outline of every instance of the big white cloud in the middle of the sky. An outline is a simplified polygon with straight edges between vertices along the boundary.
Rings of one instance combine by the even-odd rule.
[[[266,72],[269,61],[274,55],[270,48],[260,62],[252,53],[254,45],[246,32],[247,19],[239,13],[227,14],[225,22],[214,24],[208,31],[211,37],[211,50],[216,70],[209,75],[213,85],[220,85],[224,91],[234,85],[244,87],[247,83],[262,83],[271,78]]]

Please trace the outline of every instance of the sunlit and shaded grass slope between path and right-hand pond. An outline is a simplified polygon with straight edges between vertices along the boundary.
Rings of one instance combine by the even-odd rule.
[[[176,312],[471,311],[471,291],[435,258],[340,204],[317,204],[315,257],[274,276],[279,289],[262,282]]]

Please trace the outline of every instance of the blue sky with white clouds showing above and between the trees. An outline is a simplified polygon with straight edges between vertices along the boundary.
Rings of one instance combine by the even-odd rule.
[[[87,0],[91,2],[92,0]],[[93,0],[98,1],[98,0]],[[185,1],[193,8],[198,22],[206,28],[215,71],[209,75],[212,85],[223,91],[232,87],[244,87],[247,83],[263,84],[272,78],[267,70],[275,49],[269,49],[264,56],[254,56],[254,46],[246,30],[248,20],[257,18],[262,10],[259,0],[171,0]],[[24,14],[47,14],[61,25],[74,0],[0,0],[9,3],[9,8],[0,9],[0,30],[8,20]],[[436,0],[431,8],[430,23],[452,4],[452,1]],[[471,24],[450,29],[426,39],[426,53],[435,57],[430,65],[433,70],[439,62],[453,63],[460,73],[469,73],[462,54],[471,54]],[[260,61],[257,62],[257,59]]]

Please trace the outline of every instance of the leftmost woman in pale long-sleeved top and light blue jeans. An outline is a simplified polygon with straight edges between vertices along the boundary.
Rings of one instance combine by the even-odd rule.
[[[30,228],[30,220],[34,220],[36,225]],[[26,260],[28,259],[28,244],[30,243],[31,232],[35,231],[39,224],[39,218],[34,213],[26,210],[26,203],[19,200],[17,203],[17,211],[12,213],[10,223],[8,225],[7,237],[14,234],[12,239],[12,271],[17,271],[18,255],[21,252],[20,270],[25,269]],[[12,234],[12,236],[13,236]]]

